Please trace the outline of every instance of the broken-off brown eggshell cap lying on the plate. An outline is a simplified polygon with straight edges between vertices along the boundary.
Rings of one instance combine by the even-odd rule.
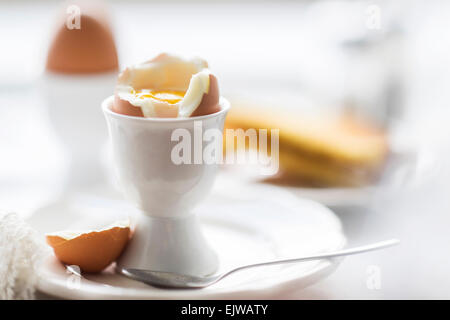
[[[46,235],[58,260],[76,265],[83,272],[105,269],[120,256],[129,239],[129,220],[88,232],[59,231]]]

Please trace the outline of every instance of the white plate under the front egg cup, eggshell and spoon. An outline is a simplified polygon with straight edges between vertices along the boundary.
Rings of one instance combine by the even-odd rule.
[[[336,250],[346,241],[339,220],[326,207],[278,187],[239,184],[223,175],[197,211],[207,238],[219,254],[222,270]],[[44,233],[94,226],[135,212],[121,200],[73,195],[41,208],[29,221]],[[38,289],[69,299],[276,298],[327,276],[337,263],[320,260],[257,268],[231,275],[205,289],[169,290],[116,275],[111,267],[79,279],[50,254],[40,270]]]

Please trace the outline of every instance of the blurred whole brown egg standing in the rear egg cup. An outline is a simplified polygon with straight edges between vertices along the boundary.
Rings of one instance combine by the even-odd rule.
[[[68,5],[64,6],[48,51],[46,69],[57,73],[117,70],[117,51],[105,13],[107,8],[90,2],[75,5],[80,8],[80,28],[69,29],[66,24],[70,19],[66,13]]]

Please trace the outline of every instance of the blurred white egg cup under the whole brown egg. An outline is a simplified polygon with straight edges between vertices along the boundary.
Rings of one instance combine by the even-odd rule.
[[[98,105],[112,90],[117,72],[57,74],[45,72],[39,82],[51,125],[69,160],[65,191],[106,183],[101,150],[106,125]]]

